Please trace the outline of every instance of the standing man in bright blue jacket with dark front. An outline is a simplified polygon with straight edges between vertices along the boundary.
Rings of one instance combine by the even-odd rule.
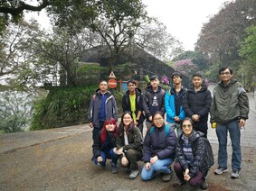
[[[176,129],[177,137],[179,137],[182,134],[180,123],[185,118],[182,100],[185,96],[186,88],[182,86],[182,74],[180,72],[172,74],[172,81],[174,86],[166,92],[165,96],[166,122],[173,129]]]

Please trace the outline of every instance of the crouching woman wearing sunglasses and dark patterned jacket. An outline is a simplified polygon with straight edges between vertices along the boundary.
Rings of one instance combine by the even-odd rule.
[[[175,174],[179,181],[174,187],[185,185],[200,186],[207,189],[205,177],[209,167],[205,161],[205,144],[202,132],[194,131],[194,122],[186,117],[181,123],[183,133],[178,140],[175,150]]]

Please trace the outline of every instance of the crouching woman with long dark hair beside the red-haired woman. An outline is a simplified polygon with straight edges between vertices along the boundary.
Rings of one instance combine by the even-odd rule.
[[[121,117],[116,153],[120,155],[121,166],[127,167],[127,172],[130,172],[128,178],[135,179],[138,175],[137,161],[143,157],[142,135],[129,112]]]

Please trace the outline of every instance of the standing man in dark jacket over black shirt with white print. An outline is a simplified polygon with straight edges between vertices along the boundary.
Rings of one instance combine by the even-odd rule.
[[[159,77],[153,75],[150,77],[150,85],[147,86],[143,94],[143,110],[147,117],[147,127],[152,123],[152,116],[160,111],[162,114],[166,113],[165,109],[165,95],[166,91],[159,86]]]

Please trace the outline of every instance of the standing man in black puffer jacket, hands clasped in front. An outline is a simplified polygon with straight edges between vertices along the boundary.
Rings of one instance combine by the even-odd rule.
[[[211,92],[203,84],[203,76],[196,72],[192,78],[192,85],[188,87],[183,99],[185,115],[194,121],[194,129],[204,133],[207,138],[207,121],[212,104]]]

